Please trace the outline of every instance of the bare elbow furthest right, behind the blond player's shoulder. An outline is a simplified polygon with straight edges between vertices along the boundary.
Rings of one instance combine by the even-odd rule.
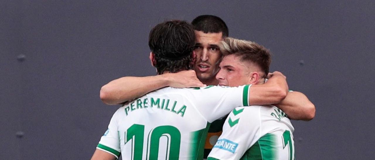
[[[293,120],[309,121],[315,117],[315,106],[301,92],[289,92],[279,104],[275,104]]]

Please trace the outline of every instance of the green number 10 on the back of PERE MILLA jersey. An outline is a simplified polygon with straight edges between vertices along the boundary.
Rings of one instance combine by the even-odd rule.
[[[149,160],[157,160],[159,154],[159,142],[162,136],[168,139],[167,142],[167,159],[178,159],[180,155],[181,132],[174,126],[158,126],[148,133],[151,137],[147,140],[150,148],[150,154],[147,155]],[[132,141],[132,160],[142,160],[143,141],[144,141],[144,125],[133,124],[126,130],[126,141]],[[169,158],[168,158],[169,157]]]

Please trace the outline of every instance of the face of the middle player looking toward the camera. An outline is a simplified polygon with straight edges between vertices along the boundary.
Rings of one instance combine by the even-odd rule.
[[[195,54],[196,62],[194,70],[196,76],[201,81],[215,79],[219,71],[220,50],[219,43],[222,40],[222,33],[203,33],[195,31],[196,45]]]

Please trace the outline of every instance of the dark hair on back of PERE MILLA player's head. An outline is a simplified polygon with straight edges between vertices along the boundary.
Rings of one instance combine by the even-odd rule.
[[[195,46],[195,33],[186,21],[172,20],[157,24],[150,31],[148,46],[154,53],[154,66],[158,74],[189,70]]]

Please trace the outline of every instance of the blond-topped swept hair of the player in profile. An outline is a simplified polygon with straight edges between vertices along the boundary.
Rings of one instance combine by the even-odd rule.
[[[227,37],[220,42],[220,52],[223,56],[234,54],[239,56],[241,61],[257,64],[264,72],[263,78],[266,78],[270,71],[271,53],[258,43]]]

